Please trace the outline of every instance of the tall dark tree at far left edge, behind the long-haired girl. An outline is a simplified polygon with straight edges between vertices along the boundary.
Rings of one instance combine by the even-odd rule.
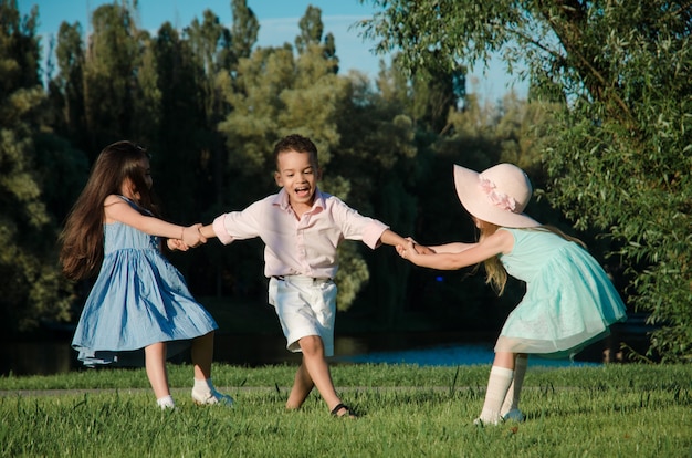
[[[36,142],[46,110],[38,11],[21,18],[15,3],[0,1],[0,322],[9,333],[67,320],[71,305],[54,250],[57,225],[44,202],[57,176],[43,181],[54,164]]]

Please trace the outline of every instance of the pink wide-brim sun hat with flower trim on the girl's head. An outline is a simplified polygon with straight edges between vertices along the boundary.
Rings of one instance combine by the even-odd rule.
[[[515,165],[497,164],[480,174],[454,165],[454,186],[461,205],[478,219],[507,228],[541,226],[524,214],[533,188]]]

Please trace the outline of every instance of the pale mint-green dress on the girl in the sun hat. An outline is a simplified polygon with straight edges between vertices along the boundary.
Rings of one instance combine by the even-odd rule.
[[[626,309],[600,264],[577,243],[544,231],[507,229],[507,273],[526,282],[526,294],[502,327],[495,352],[574,356],[626,320]]]

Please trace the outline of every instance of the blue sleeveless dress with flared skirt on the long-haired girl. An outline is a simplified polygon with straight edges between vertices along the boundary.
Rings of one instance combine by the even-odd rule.
[[[168,342],[171,357],[217,327],[160,253],[158,237],[120,222],[104,225],[103,264],[72,340],[84,365],[140,366],[145,346]]]

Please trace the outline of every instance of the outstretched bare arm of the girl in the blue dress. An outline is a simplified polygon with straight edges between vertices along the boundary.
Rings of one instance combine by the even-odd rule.
[[[122,222],[150,236],[182,240],[188,247],[207,241],[199,231],[200,223],[189,227],[174,225],[162,219],[141,215],[117,196],[108,196],[104,202],[106,222]]]

